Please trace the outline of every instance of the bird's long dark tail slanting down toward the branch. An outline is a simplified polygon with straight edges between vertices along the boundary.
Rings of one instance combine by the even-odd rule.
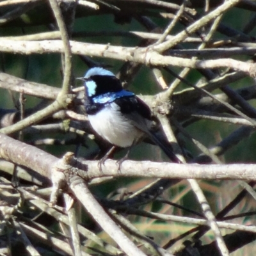
[[[154,132],[150,132],[150,138],[163,150],[166,156],[168,156],[173,163],[182,163],[180,159],[175,156],[173,153],[172,145],[170,145],[170,143],[165,138],[163,138],[163,135],[159,136]]]

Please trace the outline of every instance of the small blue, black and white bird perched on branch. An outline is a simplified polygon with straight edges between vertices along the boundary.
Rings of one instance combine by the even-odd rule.
[[[88,120],[101,138],[114,148],[131,148],[148,137],[173,163],[180,163],[167,139],[152,129],[152,111],[148,105],[133,92],[124,90],[113,72],[93,67],[79,79],[84,81],[84,107]],[[105,160],[106,157],[100,164]]]

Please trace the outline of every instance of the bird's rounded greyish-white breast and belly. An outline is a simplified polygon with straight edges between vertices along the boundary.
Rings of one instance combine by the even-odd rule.
[[[144,134],[122,116],[115,102],[106,105],[96,115],[88,115],[88,119],[95,132],[118,147],[130,147]]]

